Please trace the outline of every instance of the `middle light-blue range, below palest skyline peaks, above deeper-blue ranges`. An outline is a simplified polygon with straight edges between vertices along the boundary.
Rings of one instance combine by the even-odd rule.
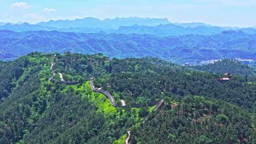
[[[191,25],[196,26],[201,23],[192,23]],[[184,24],[188,26],[189,24]],[[234,28],[236,29],[236,28]],[[55,28],[45,27],[40,25],[30,25],[28,23],[23,24],[6,24],[0,26],[0,30],[10,30],[15,32],[26,32],[26,31],[59,31],[59,32],[75,32],[75,33],[117,33],[117,34],[151,34],[157,36],[180,36],[180,35],[216,35],[225,30],[234,30],[232,27],[213,27],[213,26],[198,26],[198,27],[182,27],[174,24],[158,25],[154,27],[148,26],[120,26],[118,29],[103,29],[103,28],[91,28],[91,27],[75,27],[75,28]],[[243,31],[247,34],[256,34],[256,29],[253,28],[238,28],[237,30]]]

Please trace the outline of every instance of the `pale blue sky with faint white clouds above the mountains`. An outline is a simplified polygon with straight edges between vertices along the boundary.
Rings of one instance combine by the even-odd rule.
[[[0,0],[0,22],[94,17],[168,18],[214,26],[256,26],[256,0]]]

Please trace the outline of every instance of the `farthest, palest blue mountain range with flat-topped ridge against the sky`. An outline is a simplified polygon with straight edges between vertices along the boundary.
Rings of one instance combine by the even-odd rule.
[[[23,22],[18,22],[16,24],[14,23],[0,23],[0,26],[4,25],[21,25]],[[83,18],[83,19],[75,19],[75,20],[50,20],[48,22],[40,22],[36,25],[33,25],[33,27],[37,27],[36,29],[44,30],[48,29],[69,29],[69,28],[98,28],[98,29],[119,29],[119,27],[130,27],[133,25],[138,26],[146,26],[146,27],[155,27],[158,25],[166,25],[166,24],[173,24],[175,26],[181,26],[181,27],[199,27],[199,26],[206,26],[206,27],[212,27],[209,24],[199,23],[199,22],[193,22],[193,23],[171,23],[167,18],[138,18],[138,17],[130,17],[130,18],[106,18],[104,20],[100,20],[98,18]],[[26,23],[27,25],[27,23]],[[44,28],[43,28],[44,27]],[[1,28],[3,29],[3,28]],[[14,29],[15,30],[15,29]],[[33,30],[33,28],[32,28]],[[21,30],[20,30],[21,31]],[[63,30],[64,31],[64,30]]]

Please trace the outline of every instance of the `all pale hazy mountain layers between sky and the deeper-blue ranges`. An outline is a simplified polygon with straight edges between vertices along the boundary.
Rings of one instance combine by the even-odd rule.
[[[200,22],[194,23],[171,23],[167,18],[115,18],[100,20],[97,18],[83,18],[75,20],[50,20],[35,25],[18,22],[0,23],[1,30],[15,32],[57,30],[60,32],[76,33],[118,33],[118,34],[152,34],[158,36],[179,35],[215,35],[225,30],[241,30],[248,34],[256,34],[253,27],[215,27]]]

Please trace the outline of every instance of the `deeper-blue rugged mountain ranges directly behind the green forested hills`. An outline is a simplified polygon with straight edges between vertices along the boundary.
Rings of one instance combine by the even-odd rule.
[[[153,56],[178,63],[222,58],[256,60],[256,35],[224,31],[217,35],[154,36],[146,34],[84,34],[58,31],[12,32],[0,30],[2,60],[31,52],[67,51],[110,57]]]

